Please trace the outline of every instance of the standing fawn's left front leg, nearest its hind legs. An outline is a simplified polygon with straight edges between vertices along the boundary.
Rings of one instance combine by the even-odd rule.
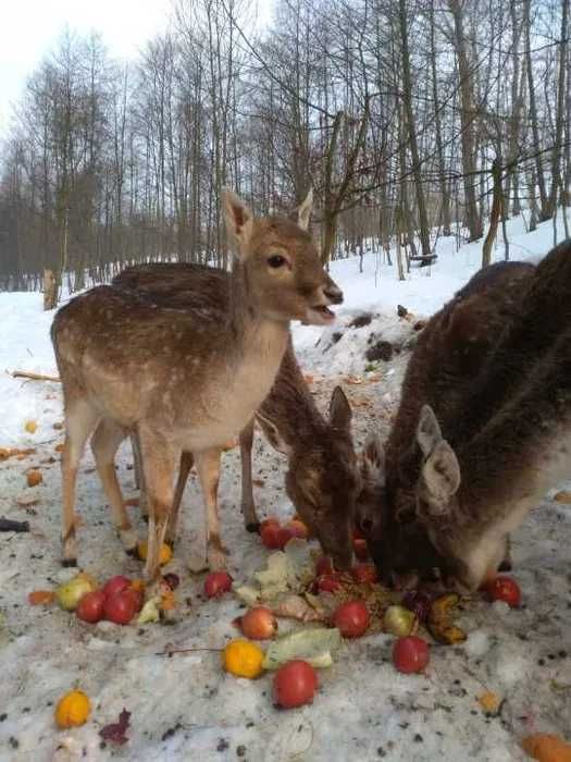
[[[148,594],[158,591],[160,581],[159,553],[164,542],[166,525],[173,504],[173,476],[181,457],[181,451],[157,432],[139,428],[142,477],[149,502],[149,531],[145,580]]]

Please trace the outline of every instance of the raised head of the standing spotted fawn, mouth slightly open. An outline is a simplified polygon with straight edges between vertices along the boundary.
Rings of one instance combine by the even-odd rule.
[[[324,271],[307,230],[312,192],[299,208],[297,223],[284,217],[255,218],[231,190],[223,192],[222,200],[228,239],[258,315],[277,322],[333,322],[328,305],[340,304],[343,293]]]

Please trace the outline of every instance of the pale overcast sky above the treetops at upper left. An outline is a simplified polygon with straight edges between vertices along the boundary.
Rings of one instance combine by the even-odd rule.
[[[166,26],[171,0],[3,0],[0,11],[0,136],[26,78],[64,26],[100,32],[112,56],[131,59]]]

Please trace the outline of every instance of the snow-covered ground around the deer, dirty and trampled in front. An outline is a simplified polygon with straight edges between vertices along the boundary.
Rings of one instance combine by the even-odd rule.
[[[509,236],[512,259],[535,260],[549,250],[553,229],[546,223],[526,234],[522,221],[516,220],[509,223]],[[414,342],[413,325],[477,270],[481,244],[455,251],[454,239],[440,239],[438,254],[432,268],[413,270],[404,283],[396,280],[395,268],[381,265],[374,254],[364,257],[362,273],[358,259],[334,262],[332,275],[346,296],[338,323],[327,330],[295,329],[298,355],[314,377],[322,409],[333,386],[344,385],[353,405],[359,446],[372,426],[386,433]],[[499,246],[496,257],[502,258]],[[398,318],[397,305],[411,315]],[[351,327],[363,312],[372,315],[371,322]],[[0,534],[1,762],[112,757],[137,762],[509,762],[525,758],[520,739],[527,733],[567,734],[571,740],[571,578],[566,539],[571,538],[571,509],[547,497],[514,536],[521,609],[491,606],[480,599],[467,603],[458,622],[469,631],[468,641],[433,646],[423,676],[396,673],[387,635],[350,642],[334,666],[320,672],[313,704],[300,710],[275,710],[270,675],[255,681],[236,679],[223,673],[216,652],[157,655],[166,644],[218,649],[236,636],[232,620],[240,611],[238,601],[227,595],[204,602],[203,577],[185,568],[201,526],[195,479],[186,495],[182,540],[167,567],[183,579],[175,625],[94,626],[57,607],[29,606],[29,591],[52,588],[71,576],[59,565],[61,486],[55,445],[62,440],[61,394],[58,383],[14,379],[3,371],[57,373],[49,340],[52,317],[41,311],[40,294],[0,294],[0,447],[36,450],[22,459],[0,462],[0,516],[27,519],[32,529]],[[399,352],[388,360],[368,360],[365,351],[380,341]],[[37,423],[34,434],[25,430],[32,420]],[[131,462],[125,446],[119,475],[127,495],[133,493]],[[33,466],[41,469],[44,482],[28,488],[25,475]],[[255,470],[260,514],[290,515],[283,489],[284,459],[261,439],[255,444]],[[225,455],[220,494],[231,572],[247,579],[263,565],[266,551],[241,526],[236,450]],[[112,530],[90,454],[78,479],[78,509],[82,566],[100,579],[113,574],[139,576],[140,563],[123,554]],[[139,531],[142,537],[142,526]],[[83,727],[59,732],[53,706],[75,686],[91,698],[91,717]],[[485,690],[504,700],[496,716],[486,716],[477,702]],[[123,708],[132,713],[128,743],[102,748],[99,729],[115,722]]]

